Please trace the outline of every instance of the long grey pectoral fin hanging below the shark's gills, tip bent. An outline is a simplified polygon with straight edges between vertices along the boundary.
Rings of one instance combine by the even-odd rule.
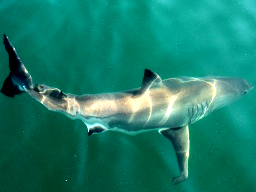
[[[187,179],[189,161],[189,126],[176,129],[162,129],[159,131],[164,137],[171,140],[176,152],[180,176],[172,179],[173,184],[178,184]]]

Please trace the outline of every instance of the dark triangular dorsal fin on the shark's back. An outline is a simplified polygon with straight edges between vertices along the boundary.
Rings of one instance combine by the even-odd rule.
[[[162,86],[162,85],[163,85],[162,79],[159,75],[157,75],[153,71],[145,69],[144,78],[142,80],[142,85],[139,90],[139,93],[143,93],[144,91],[146,91],[150,88],[154,88],[154,87],[158,87],[158,86]]]

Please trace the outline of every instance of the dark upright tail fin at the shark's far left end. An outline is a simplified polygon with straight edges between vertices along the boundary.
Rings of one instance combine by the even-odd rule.
[[[26,90],[32,89],[33,82],[32,77],[6,35],[4,35],[4,45],[9,54],[10,74],[5,79],[1,92],[8,97],[14,97],[14,95],[22,94]]]

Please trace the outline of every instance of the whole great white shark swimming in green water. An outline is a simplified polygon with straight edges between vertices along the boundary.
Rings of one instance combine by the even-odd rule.
[[[43,84],[34,84],[15,48],[4,35],[9,54],[10,74],[1,92],[8,97],[28,93],[49,110],[62,112],[71,119],[81,119],[88,135],[107,130],[138,134],[158,130],[171,140],[180,175],[174,184],[188,176],[189,125],[226,106],[253,87],[244,79],[233,77],[179,77],[162,80],[145,69],[141,88],[115,93],[67,94]]]

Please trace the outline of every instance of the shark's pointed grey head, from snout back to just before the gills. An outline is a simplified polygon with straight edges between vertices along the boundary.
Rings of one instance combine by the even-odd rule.
[[[215,95],[212,110],[224,107],[249,93],[253,86],[246,80],[233,77],[214,77]]]

